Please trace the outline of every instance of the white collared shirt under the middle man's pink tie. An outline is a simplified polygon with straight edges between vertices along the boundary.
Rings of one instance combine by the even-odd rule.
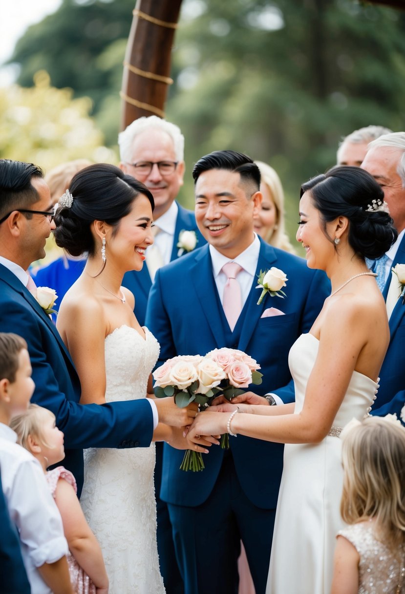
[[[211,261],[213,263],[213,275],[221,303],[223,303],[223,293],[227,281],[227,276],[222,271],[222,267],[227,262],[236,262],[236,264],[239,264],[239,266],[243,268],[243,270],[241,270],[241,272],[238,274],[238,282],[239,285],[241,285],[242,308],[246,303],[246,299],[248,298],[252,288],[252,283],[255,279],[257,261],[259,259],[260,252],[260,240],[256,233],[254,235],[255,238],[251,245],[249,245],[249,247],[246,248],[242,254],[239,254],[236,258],[233,258],[233,260],[230,260],[212,245],[210,245],[209,249]]]

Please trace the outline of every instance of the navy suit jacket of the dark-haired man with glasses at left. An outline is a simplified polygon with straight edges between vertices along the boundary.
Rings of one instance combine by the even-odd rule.
[[[97,320],[94,320],[97,323]],[[81,388],[58,330],[15,274],[0,264],[0,331],[28,343],[35,391],[31,402],[52,410],[65,434],[64,466],[83,485],[83,448],[148,447],[153,412],[146,400],[79,405]]]

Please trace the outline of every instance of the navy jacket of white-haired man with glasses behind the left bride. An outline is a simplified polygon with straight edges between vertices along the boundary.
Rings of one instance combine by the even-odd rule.
[[[205,239],[201,235],[200,231],[197,228],[197,224],[195,223],[194,213],[191,210],[186,210],[185,208],[180,206],[180,204],[178,204],[178,207],[179,211],[176,219],[175,236],[173,241],[172,254],[170,255],[170,262],[178,258],[177,254],[179,248],[177,247],[177,244],[179,239],[179,233],[181,231],[195,231],[198,239],[198,248],[200,248],[201,245],[205,244]],[[127,272],[124,275],[122,285],[124,285],[124,287],[126,287],[132,293],[134,293],[135,316],[137,317],[137,320],[141,324],[141,326],[144,326],[146,307],[148,304],[148,296],[150,292],[150,287],[152,286],[152,281],[146,263],[144,263],[144,266],[140,271],[131,270],[130,272]]]

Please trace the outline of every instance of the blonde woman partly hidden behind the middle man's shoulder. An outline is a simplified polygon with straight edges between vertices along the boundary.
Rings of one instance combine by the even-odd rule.
[[[276,171],[267,163],[255,161],[260,169],[261,209],[254,217],[255,232],[275,248],[296,254],[284,228],[284,192]]]

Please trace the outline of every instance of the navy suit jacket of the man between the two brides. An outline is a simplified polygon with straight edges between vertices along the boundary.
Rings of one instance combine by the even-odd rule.
[[[286,298],[268,293],[257,305],[260,291],[252,283],[238,345],[226,345],[216,295],[208,245],[157,271],[150,292],[146,324],[160,342],[159,364],[175,355],[205,355],[217,347],[236,347],[261,365],[261,386],[252,389],[277,393],[284,402],[294,399],[288,366],[290,347],[308,332],[330,292],[324,273],[314,272],[305,260],[261,241],[257,263],[260,270],[281,268],[288,277]],[[285,315],[261,318],[265,309],[276,307]],[[238,436],[230,438],[236,473],[243,491],[263,509],[276,507],[283,466],[283,445]],[[207,500],[217,480],[224,451],[219,446],[204,455],[203,472],[179,470],[183,451],[164,444],[160,496],[175,505],[200,505]]]

